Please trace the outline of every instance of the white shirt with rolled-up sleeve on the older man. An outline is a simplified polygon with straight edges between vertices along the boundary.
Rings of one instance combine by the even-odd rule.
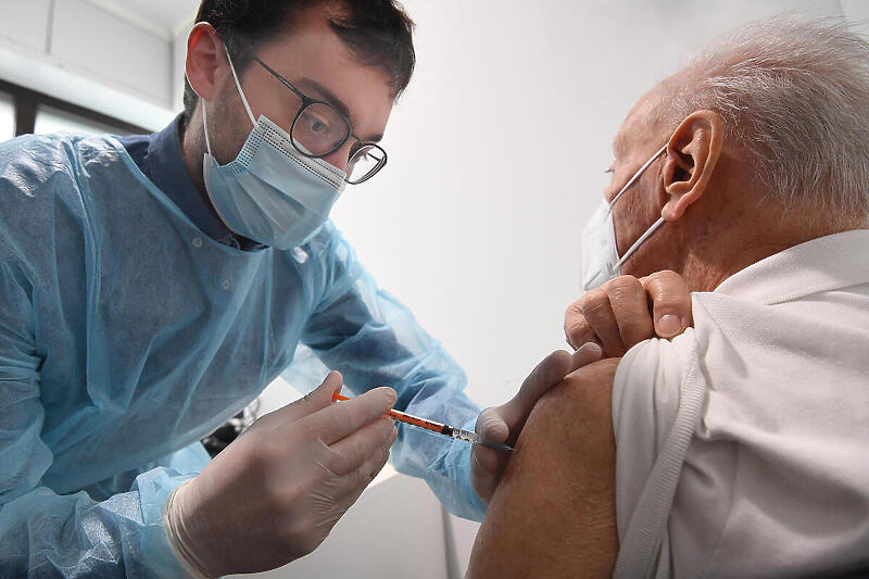
[[[692,297],[616,373],[615,577],[869,570],[869,230]]]

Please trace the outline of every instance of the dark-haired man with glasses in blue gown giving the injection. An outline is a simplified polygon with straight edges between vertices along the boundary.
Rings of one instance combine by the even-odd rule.
[[[386,162],[407,16],[387,0],[205,0],[197,20],[186,111],[164,130],[0,150],[2,576],[178,576],[176,555],[199,575],[273,568],[379,471],[393,404],[476,419],[461,369],[327,221]],[[197,441],[299,342],[360,395],[330,405],[332,373],[200,475]],[[467,444],[398,438],[399,468],[479,516]]]

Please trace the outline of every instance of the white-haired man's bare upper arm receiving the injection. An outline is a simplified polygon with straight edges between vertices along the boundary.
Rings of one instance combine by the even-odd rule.
[[[474,544],[468,577],[608,577],[618,552],[613,379],[568,375],[522,429]]]

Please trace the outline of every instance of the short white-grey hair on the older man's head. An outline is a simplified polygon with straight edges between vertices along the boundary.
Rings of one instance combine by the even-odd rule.
[[[669,121],[698,109],[721,115],[764,201],[818,207],[827,223],[869,216],[869,43],[843,20],[754,23],[706,48],[668,85]]]

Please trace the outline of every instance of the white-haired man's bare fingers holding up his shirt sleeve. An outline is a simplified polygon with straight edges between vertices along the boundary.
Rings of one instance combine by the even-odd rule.
[[[688,284],[666,270],[619,276],[587,292],[567,307],[564,331],[574,349],[595,342],[604,357],[614,357],[648,338],[679,336],[693,323]]]

